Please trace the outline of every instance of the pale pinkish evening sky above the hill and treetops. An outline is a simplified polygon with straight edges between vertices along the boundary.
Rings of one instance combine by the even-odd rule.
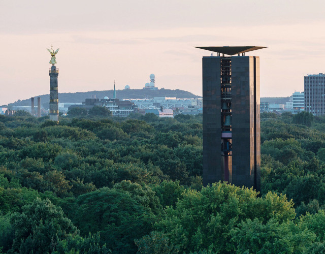
[[[304,90],[325,73],[325,1],[0,0],[0,105],[49,93],[50,53],[59,92],[156,86],[202,96],[194,46],[266,46],[261,97]]]

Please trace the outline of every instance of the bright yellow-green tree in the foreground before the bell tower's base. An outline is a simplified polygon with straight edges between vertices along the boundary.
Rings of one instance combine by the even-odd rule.
[[[226,183],[213,184],[201,192],[186,190],[176,207],[166,210],[166,218],[155,224],[155,230],[163,232],[180,252],[234,252],[237,244],[232,242],[231,230],[242,220],[259,218],[267,223],[272,219],[281,224],[295,218],[293,203],[285,196],[256,196],[252,189]]]

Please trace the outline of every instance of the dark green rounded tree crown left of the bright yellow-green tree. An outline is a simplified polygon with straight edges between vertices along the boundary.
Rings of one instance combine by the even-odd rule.
[[[113,253],[134,253],[134,240],[149,234],[155,216],[147,205],[139,203],[145,202],[136,195],[139,189],[131,195],[120,189],[122,185],[79,196],[74,221],[82,235],[100,232],[101,240]]]

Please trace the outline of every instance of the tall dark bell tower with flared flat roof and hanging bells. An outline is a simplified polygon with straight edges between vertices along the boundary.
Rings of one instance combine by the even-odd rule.
[[[202,59],[203,184],[227,181],[260,192],[259,57],[245,52],[264,47],[198,48],[218,53]]]

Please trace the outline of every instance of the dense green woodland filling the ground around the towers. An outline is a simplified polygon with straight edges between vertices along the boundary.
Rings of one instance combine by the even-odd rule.
[[[0,116],[0,252],[325,253],[325,118],[261,114],[262,196],[202,186],[202,115]]]

